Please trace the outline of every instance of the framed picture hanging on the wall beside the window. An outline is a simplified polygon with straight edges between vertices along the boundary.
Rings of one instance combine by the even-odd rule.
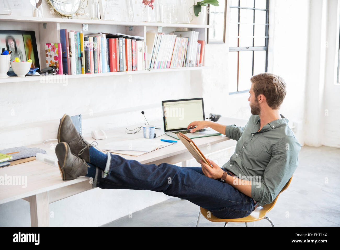
[[[207,31],[207,43],[225,43],[227,0],[219,1],[220,6],[209,4],[208,24],[212,28]]]

